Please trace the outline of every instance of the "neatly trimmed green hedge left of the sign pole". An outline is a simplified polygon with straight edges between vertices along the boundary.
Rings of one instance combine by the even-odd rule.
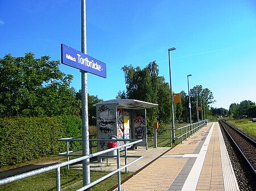
[[[0,118],[0,167],[64,152],[57,139],[80,135],[77,116]]]

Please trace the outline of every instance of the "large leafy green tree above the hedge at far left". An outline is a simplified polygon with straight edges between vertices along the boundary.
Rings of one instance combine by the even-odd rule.
[[[72,75],[59,70],[59,61],[6,54],[0,58],[0,117],[76,114],[81,103],[69,88]]]

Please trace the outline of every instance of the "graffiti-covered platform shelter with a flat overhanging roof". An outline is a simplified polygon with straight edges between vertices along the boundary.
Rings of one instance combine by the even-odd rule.
[[[97,138],[143,139],[135,146],[147,147],[146,109],[158,104],[133,99],[101,101],[96,106]],[[98,142],[98,151],[107,149],[108,142]]]

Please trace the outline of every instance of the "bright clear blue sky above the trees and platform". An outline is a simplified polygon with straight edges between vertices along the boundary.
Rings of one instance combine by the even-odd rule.
[[[27,52],[60,60],[60,44],[81,51],[81,1],[0,0],[0,58]],[[103,100],[126,90],[121,68],[152,61],[175,93],[201,85],[216,108],[256,102],[255,0],[87,0],[86,54],[106,63],[107,78],[88,74],[88,93]],[[78,69],[71,86],[81,89]]]

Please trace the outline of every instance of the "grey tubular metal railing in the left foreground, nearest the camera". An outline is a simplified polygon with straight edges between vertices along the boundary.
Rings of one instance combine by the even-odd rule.
[[[98,139],[98,140],[102,140],[102,139]],[[113,139],[104,139],[104,141],[113,141]],[[118,140],[115,140],[115,141],[118,141]],[[122,141],[123,141],[123,139],[122,139]],[[128,140],[126,140],[126,141],[128,141]],[[131,140],[129,139],[129,141],[131,141]],[[120,166],[120,158],[122,156],[120,156],[120,149],[126,148],[128,146],[134,145],[134,144],[139,143],[139,142],[142,142],[142,139],[139,139],[139,140],[137,139],[137,141],[126,143],[125,145],[120,145],[120,146],[117,146],[117,147],[114,147],[114,148],[109,148],[107,150],[96,152],[94,154],[89,154],[89,155],[86,155],[86,156],[82,156],[80,158],[72,159],[72,160],[69,160],[67,162],[63,162],[63,163],[51,165],[51,166],[48,166],[48,167],[36,169],[34,171],[22,173],[20,175],[7,177],[6,179],[0,180],[0,185],[8,184],[10,182],[14,182],[14,181],[21,180],[21,179],[25,179],[27,177],[39,175],[40,173],[52,171],[52,170],[55,169],[56,170],[56,190],[60,191],[60,168],[61,167],[65,167],[67,165],[71,165],[71,164],[74,164],[74,163],[77,163],[77,162],[82,162],[83,160],[86,160],[86,159],[89,159],[89,158],[92,158],[92,157],[96,157],[96,156],[104,157],[105,155],[103,155],[103,154],[106,154],[107,152],[110,152],[110,151],[117,150],[117,169],[115,169],[115,171],[113,171],[113,172],[108,173],[108,175],[105,175],[105,176],[101,177],[100,179],[98,179],[96,181],[93,181],[88,185],[83,186],[82,188],[80,188],[78,190],[82,191],[82,190],[91,188],[92,186],[98,184],[99,182],[101,182],[105,179],[108,179],[108,177],[114,175],[115,173],[117,173],[117,178],[118,178],[118,190],[121,190],[121,171],[122,171],[122,169],[125,169],[129,165],[131,165],[131,164],[137,162],[138,160],[142,159],[143,156],[136,156],[136,155],[126,156],[126,157],[132,157],[132,158],[137,158],[137,159],[135,159],[135,160],[131,161],[130,163],[127,163],[127,164],[125,164],[121,167]]]

